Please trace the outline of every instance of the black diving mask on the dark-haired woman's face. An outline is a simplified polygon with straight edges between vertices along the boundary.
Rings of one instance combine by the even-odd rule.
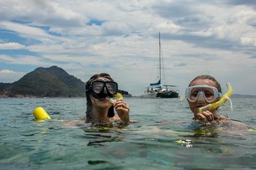
[[[92,82],[89,90],[94,98],[105,98],[107,96],[112,98],[117,94],[118,85],[114,81],[96,80]]]

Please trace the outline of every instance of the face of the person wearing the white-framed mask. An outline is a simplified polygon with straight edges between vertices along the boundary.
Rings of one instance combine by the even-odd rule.
[[[191,83],[191,86],[198,86],[197,90],[204,92],[191,91],[192,94],[190,100],[188,100],[188,105],[194,114],[198,113],[198,108],[218,101],[218,98],[216,97],[217,94],[213,94],[216,93],[215,88],[217,88],[215,81],[209,79],[196,79]],[[203,88],[203,86],[210,86],[213,88],[210,90],[210,88]],[[196,94],[196,92],[198,92],[198,94]]]

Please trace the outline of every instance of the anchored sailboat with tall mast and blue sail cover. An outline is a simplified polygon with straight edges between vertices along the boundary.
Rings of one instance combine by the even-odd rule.
[[[178,86],[161,84],[161,40],[159,33],[159,81],[149,84],[140,98],[178,98]]]

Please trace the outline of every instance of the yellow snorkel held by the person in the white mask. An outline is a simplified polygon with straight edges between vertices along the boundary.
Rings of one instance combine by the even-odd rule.
[[[207,106],[203,106],[203,107],[199,108],[198,112],[203,113],[203,111],[213,111],[213,109],[218,108],[223,103],[225,103],[227,101],[227,99],[230,99],[230,96],[233,94],[233,88],[229,82],[227,83],[227,88],[228,88],[228,92],[226,94],[224,94],[220,98],[219,101],[217,101],[215,103],[210,103]],[[231,103],[231,108],[232,108],[232,103]]]

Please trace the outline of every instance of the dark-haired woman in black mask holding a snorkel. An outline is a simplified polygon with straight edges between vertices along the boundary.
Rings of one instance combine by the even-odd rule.
[[[129,123],[129,105],[123,98],[110,102],[118,94],[118,84],[109,74],[95,74],[85,85],[87,98],[86,121],[112,122],[122,120]],[[114,110],[117,115],[114,115]]]

